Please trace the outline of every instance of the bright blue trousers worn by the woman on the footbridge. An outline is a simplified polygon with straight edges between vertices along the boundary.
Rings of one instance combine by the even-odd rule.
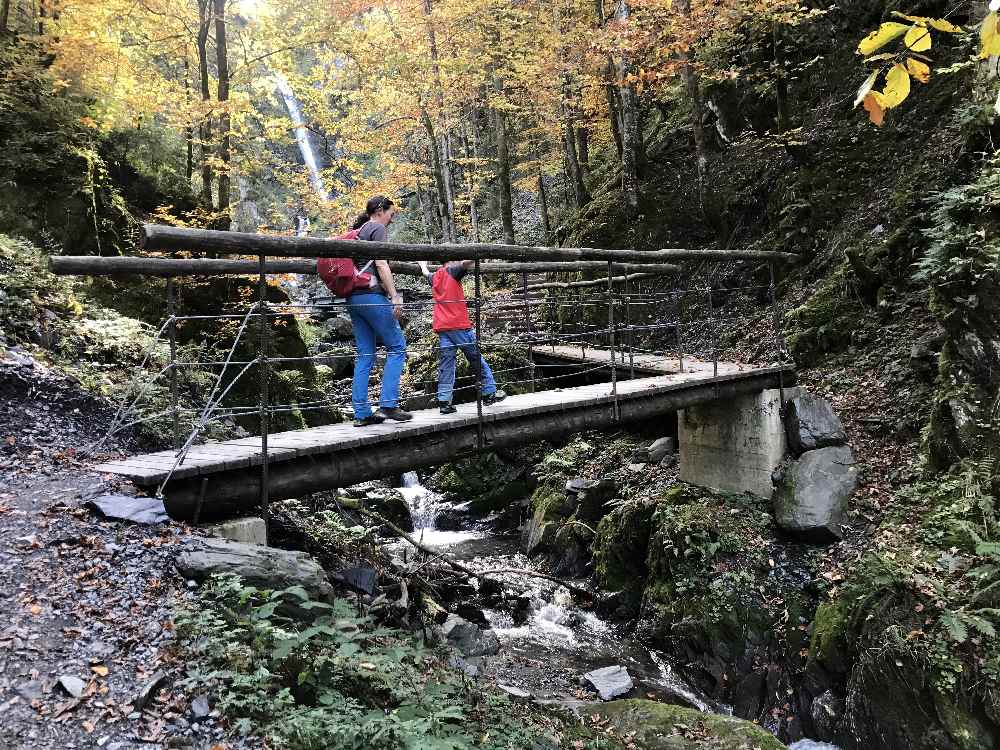
[[[375,347],[378,344],[385,346],[388,352],[385,372],[382,373],[379,406],[393,408],[399,405],[399,380],[406,363],[406,337],[399,327],[399,321],[393,317],[392,304],[384,294],[352,294],[347,299],[347,311],[351,314],[354,345],[358,350],[358,356],[354,360],[351,402],[354,405],[354,418],[364,419],[372,413],[372,406],[368,401],[368,381],[375,364]]]

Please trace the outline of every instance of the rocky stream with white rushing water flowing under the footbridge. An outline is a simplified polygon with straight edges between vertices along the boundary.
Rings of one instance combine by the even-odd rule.
[[[439,513],[445,509],[453,512],[456,506],[423,487],[415,472],[405,474],[402,483],[397,489],[410,507],[413,536],[424,545],[476,570],[535,569],[522,551],[518,532],[496,533],[488,524],[477,524],[471,519],[465,528],[439,529]],[[713,701],[686,683],[665,654],[642,644],[625,625],[606,621],[578,607],[565,587],[518,573],[503,573],[494,578],[516,592],[517,606],[513,611],[480,610],[484,619],[481,624],[492,628],[501,644],[495,656],[471,660],[488,678],[528,691],[540,702],[572,706],[596,699],[596,694],[582,683],[584,673],[621,665],[635,683],[630,697],[648,697],[700,711],[732,713],[730,706]],[[588,587],[585,579],[571,583]],[[837,750],[834,745],[808,739],[790,747]]]

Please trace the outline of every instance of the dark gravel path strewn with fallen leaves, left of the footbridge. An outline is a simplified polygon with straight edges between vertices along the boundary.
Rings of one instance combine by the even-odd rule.
[[[86,507],[121,491],[75,457],[108,408],[17,350],[0,359],[0,747],[250,747],[173,684],[188,530]]]

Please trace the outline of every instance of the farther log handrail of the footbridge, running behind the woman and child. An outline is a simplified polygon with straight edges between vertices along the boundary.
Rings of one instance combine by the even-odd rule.
[[[354,248],[357,252],[357,248]],[[405,261],[391,261],[393,273],[401,276],[420,276],[420,266]],[[616,273],[638,272],[647,276],[677,273],[679,266],[669,263],[613,263]],[[135,256],[54,255],[49,258],[49,268],[61,276],[226,276],[256,275],[260,271],[257,260],[226,260],[202,258],[151,258]],[[436,266],[431,266],[434,270]],[[572,273],[579,271],[606,272],[607,263],[601,261],[539,262],[539,263],[481,263],[484,274],[504,273]],[[268,260],[264,263],[268,274],[315,274],[315,260]]]

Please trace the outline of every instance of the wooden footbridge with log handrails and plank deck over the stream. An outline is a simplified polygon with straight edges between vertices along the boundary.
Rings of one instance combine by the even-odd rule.
[[[351,241],[275,238],[157,226],[145,227],[144,237],[146,249],[211,250],[217,254],[244,255],[256,253],[258,260],[202,262],[166,258],[56,258],[53,259],[53,269],[57,273],[148,273],[171,277],[246,274],[253,266],[258,271],[260,287],[255,314],[261,321],[266,321],[269,313],[264,302],[265,277],[271,272],[287,272],[280,261],[272,266],[281,268],[280,271],[269,269],[268,263],[273,261],[268,261],[266,255],[337,257],[357,251],[357,243]],[[608,325],[599,335],[609,346],[581,348],[556,343],[552,339],[549,346],[544,343],[533,345],[533,354],[541,360],[549,357],[567,364],[589,366],[596,363],[597,366],[606,368],[610,382],[566,388],[549,387],[547,390],[512,395],[506,401],[492,406],[485,406],[481,399],[477,399],[476,402],[459,405],[457,412],[450,415],[442,415],[437,409],[417,411],[414,412],[413,420],[405,423],[387,422],[364,428],[342,423],[274,433],[268,429],[272,406],[267,398],[268,360],[262,346],[257,360],[242,363],[247,366],[256,365],[261,376],[261,402],[257,409],[261,422],[260,435],[239,440],[199,443],[197,434],[192,434],[183,445],[178,445],[174,450],[106,462],[98,465],[96,470],[126,477],[141,487],[161,492],[168,512],[175,518],[220,519],[245,513],[258,504],[266,508],[271,498],[296,497],[334,487],[346,487],[368,479],[445,463],[478,450],[567,437],[581,430],[648,420],[695,404],[780,388],[794,382],[795,373],[788,365],[750,367],[735,362],[698,359],[691,355],[685,357],[682,352],[678,352],[673,359],[656,354],[627,352],[616,344],[622,340],[627,326],[616,323],[612,293],[613,286],[621,283],[616,279],[624,279],[627,284],[634,277],[630,271],[640,260],[646,261],[642,275],[656,276],[654,269],[657,261],[743,260],[772,264],[788,262],[794,256],[759,252],[640,252],[481,244],[368,244],[371,248],[366,247],[366,252],[374,251],[379,257],[390,260],[475,260],[476,296],[474,300],[470,300],[470,307],[475,306],[477,319],[480,308],[480,272],[483,272],[480,259],[505,261],[482,264],[483,267],[493,266],[487,271],[495,273],[509,273],[511,269],[508,266],[512,265],[524,265],[524,273],[529,265],[532,266],[532,273],[546,271],[546,265],[557,266],[555,270],[558,271],[566,271],[570,268],[566,265],[568,262],[586,268],[599,261],[596,265],[607,268],[607,293],[602,297],[601,304],[607,305],[608,317]],[[122,263],[122,260],[127,262]],[[624,275],[615,277],[613,274],[619,269],[624,271]],[[308,271],[309,267],[304,266],[300,270]],[[676,266],[669,266],[669,273],[677,271]],[[526,294],[524,299],[527,300]],[[530,315],[530,310],[526,314]],[[248,319],[249,317],[248,313]],[[777,319],[777,315],[775,318]],[[172,320],[173,317],[165,324],[171,333]],[[265,338],[264,325],[261,322],[262,342]],[[478,325],[477,328],[481,330]],[[631,336],[628,338],[631,340]],[[172,344],[171,337],[171,367],[168,368],[171,371],[174,369]],[[228,361],[226,364],[229,364]],[[632,371],[633,377],[624,379],[627,375],[624,371],[628,369]],[[219,382],[222,382],[221,375]],[[176,394],[176,380],[172,381],[171,386]],[[476,390],[478,392],[479,389]],[[221,398],[219,396],[218,401]],[[174,411],[176,420],[176,400]],[[209,411],[207,406],[205,413]],[[201,424],[203,426],[204,419]]]

